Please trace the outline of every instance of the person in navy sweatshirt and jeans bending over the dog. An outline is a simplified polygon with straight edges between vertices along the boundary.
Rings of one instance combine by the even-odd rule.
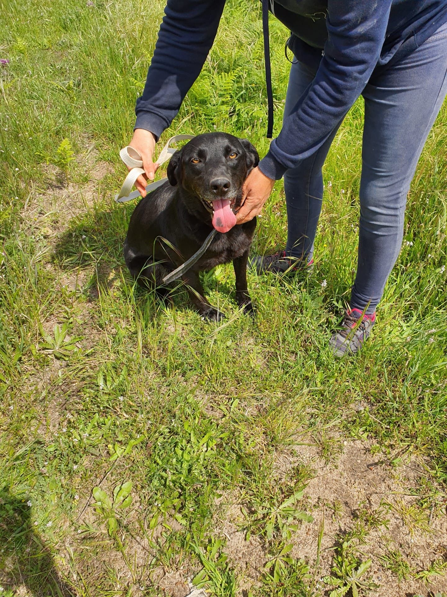
[[[291,31],[283,127],[249,174],[237,223],[262,210],[284,177],[287,244],[259,256],[259,273],[313,262],[321,211],[321,168],[344,116],[364,97],[358,264],[349,309],[330,339],[337,356],[370,336],[376,307],[398,257],[406,195],[447,93],[447,0],[262,0]],[[212,47],[225,0],[168,0],[136,101],[131,146],[142,156],[145,195],[156,141],[176,116]],[[264,23],[265,24],[265,23]]]

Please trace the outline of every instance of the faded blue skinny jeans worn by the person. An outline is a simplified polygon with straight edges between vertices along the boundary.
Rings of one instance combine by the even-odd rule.
[[[315,71],[292,64],[284,116]],[[365,87],[357,273],[350,307],[374,313],[398,258],[406,196],[424,143],[447,94],[447,23],[401,60],[377,67]],[[321,168],[342,124],[318,151],[284,174],[287,254],[306,263],[321,211]]]

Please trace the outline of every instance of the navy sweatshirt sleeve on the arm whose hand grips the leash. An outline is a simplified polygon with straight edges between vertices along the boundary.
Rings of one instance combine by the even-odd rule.
[[[225,0],[168,0],[135,128],[157,137],[169,127],[213,45]]]

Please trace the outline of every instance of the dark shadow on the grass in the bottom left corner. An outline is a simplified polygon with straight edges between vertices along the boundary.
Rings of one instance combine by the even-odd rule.
[[[76,597],[35,533],[31,511],[26,498],[0,488],[0,586],[6,590],[2,594],[14,595],[24,585],[33,597]]]

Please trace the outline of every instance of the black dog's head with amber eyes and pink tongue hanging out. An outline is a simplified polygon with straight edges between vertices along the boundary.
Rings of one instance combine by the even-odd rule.
[[[190,213],[228,232],[236,223],[244,180],[258,163],[259,155],[247,139],[205,133],[173,154],[167,178],[186,191],[182,200]]]

